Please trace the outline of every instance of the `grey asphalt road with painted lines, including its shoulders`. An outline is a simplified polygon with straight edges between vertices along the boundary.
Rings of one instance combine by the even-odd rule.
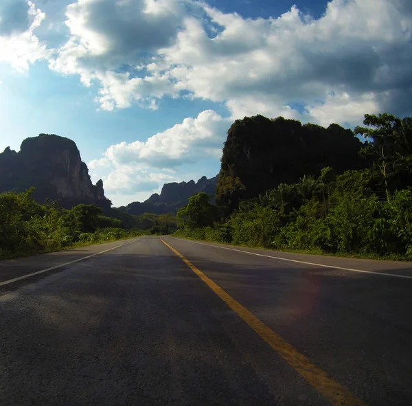
[[[412,405],[412,264],[163,240],[0,261],[1,406]]]

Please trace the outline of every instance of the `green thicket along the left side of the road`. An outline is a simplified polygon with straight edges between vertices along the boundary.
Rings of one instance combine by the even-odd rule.
[[[32,190],[0,194],[0,258],[56,251],[73,245],[87,245],[130,238],[141,234],[169,234],[176,229],[170,214],[135,217],[122,212],[104,216],[95,205],[77,205],[70,210],[45,201],[37,203]],[[126,221],[126,225],[124,223]]]

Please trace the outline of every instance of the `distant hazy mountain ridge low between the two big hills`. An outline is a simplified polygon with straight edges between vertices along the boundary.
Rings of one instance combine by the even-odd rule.
[[[160,194],[152,194],[152,196],[144,202],[135,201],[129,203],[127,206],[119,207],[119,210],[136,216],[143,213],[175,213],[179,207],[187,203],[190,196],[196,193],[205,192],[214,200],[217,181],[217,176],[210,179],[203,176],[197,182],[191,180],[180,183],[165,183]]]

